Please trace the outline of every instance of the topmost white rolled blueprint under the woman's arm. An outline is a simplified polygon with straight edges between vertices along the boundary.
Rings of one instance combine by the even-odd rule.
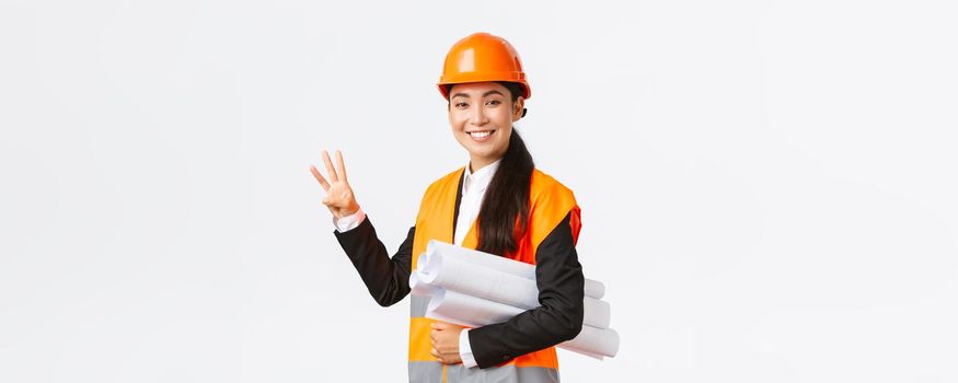
[[[426,253],[419,255],[416,260],[417,268],[423,269],[426,264],[434,262],[434,258],[455,258],[458,260],[474,265],[484,266],[494,270],[510,274],[523,279],[535,281],[535,266],[527,263],[500,257],[494,254],[480,252],[472,248],[455,246],[449,243],[431,240],[426,244]],[[442,263],[442,260],[440,260]],[[602,299],[605,294],[605,285],[598,280],[586,278],[585,285],[586,297]]]

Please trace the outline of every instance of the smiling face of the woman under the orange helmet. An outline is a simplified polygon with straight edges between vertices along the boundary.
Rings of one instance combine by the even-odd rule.
[[[449,96],[452,136],[469,151],[472,170],[503,158],[512,123],[522,118],[524,100],[512,103],[509,90],[497,82],[455,84]]]

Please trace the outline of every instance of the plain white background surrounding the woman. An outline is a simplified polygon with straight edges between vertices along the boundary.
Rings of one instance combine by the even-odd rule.
[[[588,7],[584,7],[588,5]],[[310,175],[390,253],[509,39],[622,336],[566,382],[955,382],[948,1],[0,1],[0,381],[406,379]]]

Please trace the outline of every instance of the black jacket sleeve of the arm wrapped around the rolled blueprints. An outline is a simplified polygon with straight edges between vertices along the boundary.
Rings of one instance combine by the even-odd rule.
[[[570,216],[539,244],[535,251],[535,283],[539,307],[508,322],[469,330],[469,343],[480,368],[575,338],[582,329],[585,277],[576,253]]]

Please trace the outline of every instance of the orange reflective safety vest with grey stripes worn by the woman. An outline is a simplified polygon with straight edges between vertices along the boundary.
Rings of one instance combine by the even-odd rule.
[[[416,269],[418,255],[426,251],[430,240],[453,243],[452,223],[454,219],[455,196],[459,181],[465,167],[434,182],[423,196],[416,217],[416,233],[413,240],[413,269]],[[529,228],[517,241],[518,248],[507,254],[511,259],[535,265],[535,251],[539,244],[555,227],[569,214],[574,243],[578,240],[581,222],[579,207],[572,190],[552,176],[532,171],[529,194]],[[476,248],[478,245],[476,223],[473,222],[463,247]],[[557,382],[558,359],[555,347],[516,357],[501,364],[478,369],[466,369],[462,364],[442,364],[429,352],[432,348],[429,325],[435,320],[427,318],[428,300],[411,295],[409,310],[409,382]]]

